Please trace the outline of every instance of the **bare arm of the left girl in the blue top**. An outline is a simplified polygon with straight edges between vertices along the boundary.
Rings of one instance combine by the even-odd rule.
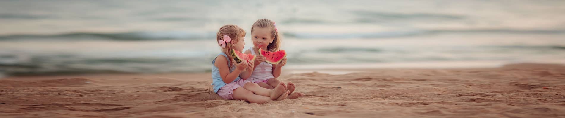
[[[243,62],[236,64],[236,69],[230,73],[228,67],[228,59],[226,59],[224,56],[220,56],[220,55],[216,56],[216,62],[214,63],[214,65],[216,65],[216,67],[218,67],[218,69],[220,70],[221,80],[224,81],[224,83],[233,82],[233,80],[235,80],[240,75],[242,70],[245,69],[245,68],[241,68],[241,65],[246,65],[246,64],[247,63],[243,63]]]

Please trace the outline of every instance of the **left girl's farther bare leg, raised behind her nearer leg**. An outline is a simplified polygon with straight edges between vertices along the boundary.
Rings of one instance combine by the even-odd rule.
[[[256,95],[271,97],[271,100],[276,100],[279,96],[286,91],[285,86],[279,86],[275,89],[267,89],[259,87],[257,83],[247,82],[244,84],[244,88],[255,93]]]

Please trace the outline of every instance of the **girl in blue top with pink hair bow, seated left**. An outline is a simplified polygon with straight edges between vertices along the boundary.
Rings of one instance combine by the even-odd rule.
[[[236,63],[231,53],[232,49],[244,49],[245,30],[236,25],[224,25],[216,34],[216,41],[221,47],[221,53],[212,60],[212,85],[214,92],[228,100],[245,100],[250,103],[265,103],[272,100],[283,100],[289,91],[282,84],[274,89],[259,87],[257,83],[244,82],[239,76],[244,71],[252,71],[253,62]],[[233,38],[233,39],[232,39]],[[246,78],[245,78],[246,79]]]

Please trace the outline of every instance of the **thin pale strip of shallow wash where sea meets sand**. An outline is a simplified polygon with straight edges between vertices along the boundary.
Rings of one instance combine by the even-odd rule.
[[[438,65],[440,64],[440,65]],[[282,74],[299,74],[299,73],[326,73],[326,74],[348,74],[355,72],[367,72],[371,70],[383,69],[492,69],[503,68],[509,65],[531,65],[533,67],[540,67],[541,65],[565,65],[565,61],[554,60],[541,62],[527,62],[527,63],[507,63],[507,62],[414,62],[414,63],[362,63],[362,64],[317,64],[317,65],[292,65],[284,68]],[[69,78],[69,77],[110,77],[113,75],[120,77],[134,77],[136,75],[166,75],[179,77],[181,75],[202,75],[211,74],[210,72],[175,72],[175,73],[85,73],[85,74],[38,74],[38,75],[2,75],[0,79],[16,79],[16,78]]]

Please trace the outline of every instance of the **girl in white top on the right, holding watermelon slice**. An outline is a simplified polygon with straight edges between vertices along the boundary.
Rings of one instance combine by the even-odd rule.
[[[277,77],[281,75],[281,70],[286,65],[286,58],[278,64],[269,64],[265,62],[265,56],[259,55],[259,49],[266,51],[277,51],[281,44],[281,37],[279,30],[276,28],[275,22],[268,19],[259,19],[251,26],[251,41],[253,41],[253,48],[246,50],[246,54],[254,54],[257,56],[254,62],[253,73],[242,73],[241,77],[249,77],[248,82],[259,84],[260,87],[275,89],[279,85],[285,85],[284,82],[279,81]],[[303,93],[294,92],[294,83],[288,82],[289,98],[295,99]]]

